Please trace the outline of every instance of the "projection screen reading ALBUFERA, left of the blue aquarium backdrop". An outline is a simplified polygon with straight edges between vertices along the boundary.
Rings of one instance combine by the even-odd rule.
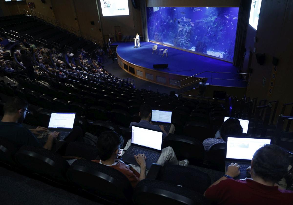
[[[100,0],[103,16],[129,15],[128,0]]]

